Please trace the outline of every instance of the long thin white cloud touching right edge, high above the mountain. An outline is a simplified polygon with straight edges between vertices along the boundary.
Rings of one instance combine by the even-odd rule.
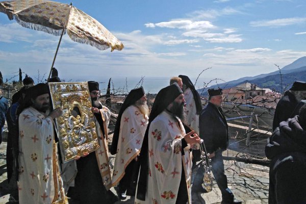
[[[282,27],[286,25],[293,25],[306,22],[306,18],[294,17],[294,18],[279,18],[274,20],[260,20],[251,21],[252,27]]]

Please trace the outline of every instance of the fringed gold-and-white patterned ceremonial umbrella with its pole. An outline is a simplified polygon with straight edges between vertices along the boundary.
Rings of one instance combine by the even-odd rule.
[[[100,50],[109,47],[121,50],[123,44],[96,19],[68,4],[45,0],[19,0],[0,2],[0,12],[22,27],[61,36],[49,77],[57,56],[63,34],[76,42],[90,44]]]

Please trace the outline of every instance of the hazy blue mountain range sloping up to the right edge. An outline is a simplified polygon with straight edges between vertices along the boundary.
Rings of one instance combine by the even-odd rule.
[[[206,90],[209,88],[220,87],[222,89],[228,89],[248,82],[251,84],[256,84],[260,88],[275,89],[277,92],[281,93],[289,89],[294,81],[306,81],[306,57],[301,57],[291,64],[284,66],[280,70],[281,71],[276,70],[270,73],[259,74],[254,77],[243,77],[238,80],[213,85],[205,88],[204,90],[199,89],[198,91],[199,93],[202,93],[202,95],[207,95]],[[282,74],[280,74],[280,72]]]

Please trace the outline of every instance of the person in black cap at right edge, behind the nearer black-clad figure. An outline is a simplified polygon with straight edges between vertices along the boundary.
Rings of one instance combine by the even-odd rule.
[[[283,97],[278,101],[274,118],[273,131],[279,126],[279,123],[292,118],[298,113],[297,104],[306,98],[306,82],[295,81],[292,87],[286,91]],[[297,108],[297,109],[296,109]]]

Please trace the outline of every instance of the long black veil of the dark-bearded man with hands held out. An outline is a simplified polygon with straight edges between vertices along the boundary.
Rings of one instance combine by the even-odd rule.
[[[167,86],[161,89],[152,106],[151,113],[149,116],[149,123],[147,129],[144,134],[139,160],[140,160],[140,172],[138,179],[138,187],[137,187],[137,198],[140,200],[145,200],[146,194],[146,185],[147,185],[147,175],[148,175],[148,132],[151,122],[161,114],[169,104],[171,104],[174,99],[182,94],[183,91],[177,85],[177,83],[173,83],[170,86]]]

